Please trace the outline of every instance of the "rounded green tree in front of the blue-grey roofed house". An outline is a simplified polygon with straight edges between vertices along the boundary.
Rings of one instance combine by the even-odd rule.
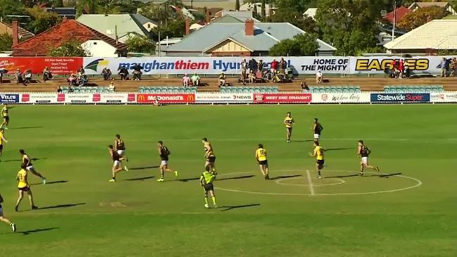
[[[312,34],[300,34],[282,40],[271,47],[270,56],[315,56],[319,49],[316,39]]]

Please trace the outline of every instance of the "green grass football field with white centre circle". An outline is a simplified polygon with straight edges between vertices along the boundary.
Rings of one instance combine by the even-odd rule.
[[[287,111],[296,120],[289,144]],[[0,193],[18,232],[0,224],[0,256],[457,254],[453,105],[14,106],[10,113]],[[315,117],[328,150],[323,180],[308,156]],[[116,133],[131,170],[108,183],[107,145]],[[202,137],[217,155],[220,208],[204,208]],[[384,175],[353,176],[358,139]],[[179,180],[156,182],[158,140]],[[258,143],[274,180],[258,171]],[[38,158],[49,184],[30,175],[41,209],[29,211],[25,199],[15,213],[21,148]]]

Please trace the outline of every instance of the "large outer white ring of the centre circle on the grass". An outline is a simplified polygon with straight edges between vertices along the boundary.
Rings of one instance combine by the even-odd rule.
[[[298,171],[303,171],[303,170],[270,170],[271,172],[281,172],[281,171],[290,171],[290,172],[298,172]],[[356,173],[355,171],[350,171],[350,170],[328,170],[332,172],[346,172],[346,173]],[[255,173],[253,171],[245,171],[245,172],[239,172],[239,173],[226,173],[226,174],[220,174],[220,176],[227,176],[227,175],[236,175],[236,174],[244,174],[244,173]],[[371,174],[380,174],[380,173],[374,173],[370,171],[365,171],[365,173],[371,173]],[[386,173],[381,173],[382,175],[387,175]],[[422,181],[414,178],[414,177],[408,177],[408,176],[403,176],[403,175],[395,175],[396,177],[403,177],[409,180],[414,180],[417,182],[417,184],[411,186],[411,187],[404,187],[400,189],[392,189],[392,190],[384,190],[384,191],[376,191],[376,192],[361,192],[361,193],[337,193],[337,194],[314,194],[314,196],[342,196],[342,195],[361,195],[361,194],[382,194],[382,193],[392,193],[392,192],[399,192],[399,191],[404,191],[408,189],[413,189],[415,187],[420,187],[422,185]],[[217,181],[217,180],[216,180]],[[228,192],[238,192],[238,193],[245,193],[245,194],[263,194],[263,195],[273,195],[273,196],[311,196],[311,194],[299,194],[299,193],[268,193],[268,192],[252,192],[252,191],[244,191],[244,190],[237,190],[237,189],[226,189],[223,187],[215,187],[215,189],[223,190],[223,191],[228,191]]]

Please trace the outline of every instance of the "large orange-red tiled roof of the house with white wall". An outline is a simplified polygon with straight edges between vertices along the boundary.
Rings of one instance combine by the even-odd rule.
[[[63,20],[62,23],[49,30],[13,46],[13,56],[47,56],[51,49],[55,49],[71,39],[82,43],[88,40],[102,40],[118,51],[127,49],[125,44],[116,44],[114,39],[78,23],[76,20]]]

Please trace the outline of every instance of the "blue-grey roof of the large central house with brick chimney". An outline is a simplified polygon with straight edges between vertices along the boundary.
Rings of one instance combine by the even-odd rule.
[[[254,35],[246,36],[244,23],[210,23],[164,51],[204,52],[227,39],[232,39],[251,51],[269,51],[277,42],[304,33],[290,23],[254,23]],[[320,39],[318,44],[319,51],[337,50]]]

